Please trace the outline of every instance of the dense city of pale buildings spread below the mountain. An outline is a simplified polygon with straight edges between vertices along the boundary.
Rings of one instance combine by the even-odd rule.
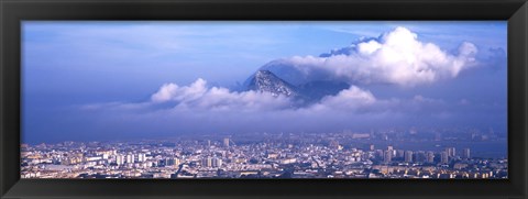
[[[376,141],[439,144],[418,133],[246,134],[174,140],[22,144],[22,178],[507,178],[508,161],[471,147],[404,150]],[[458,141],[499,140],[493,133]],[[370,143],[370,144],[369,144]]]

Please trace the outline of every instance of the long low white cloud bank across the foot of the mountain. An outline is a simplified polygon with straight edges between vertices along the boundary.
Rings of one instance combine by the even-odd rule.
[[[444,102],[438,99],[426,98],[420,95],[410,99],[377,99],[370,90],[351,86],[334,96],[327,96],[320,101],[306,107],[297,107],[286,97],[275,97],[268,92],[230,91],[222,87],[208,87],[207,81],[197,79],[189,86],[164,84],[151,100],[139,103],[108,102],[81,106],[82,110],[111,111],[162,111],[169,114],[194,111],[233,112],[296,112],[298,114],[319,114],[329,112],[346,112],[348,114],[420,112],[443,109]]]

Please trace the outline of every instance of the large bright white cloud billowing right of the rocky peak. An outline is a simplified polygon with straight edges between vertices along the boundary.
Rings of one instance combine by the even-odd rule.
[[[326,73],[352,84],[394,84],[413,87],[454,78],[476,64],[477,48],[464,42],[455,54],[418,40],[416,33],[397,27],[380,38],[363,40],[348,54],[329,57],[294,56],[287,62],[305,76]]]

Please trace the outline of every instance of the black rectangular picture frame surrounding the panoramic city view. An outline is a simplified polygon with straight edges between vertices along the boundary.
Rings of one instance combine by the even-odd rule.
[[[528,196],[526,0],[0,0],[0,198]],[[507,20],[509,179],[21,179],[23,20]]]

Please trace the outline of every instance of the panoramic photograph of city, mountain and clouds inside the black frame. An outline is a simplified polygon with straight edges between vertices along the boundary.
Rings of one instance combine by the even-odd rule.
[[[21,178],[508,178],[506,21],[21,26]]]

